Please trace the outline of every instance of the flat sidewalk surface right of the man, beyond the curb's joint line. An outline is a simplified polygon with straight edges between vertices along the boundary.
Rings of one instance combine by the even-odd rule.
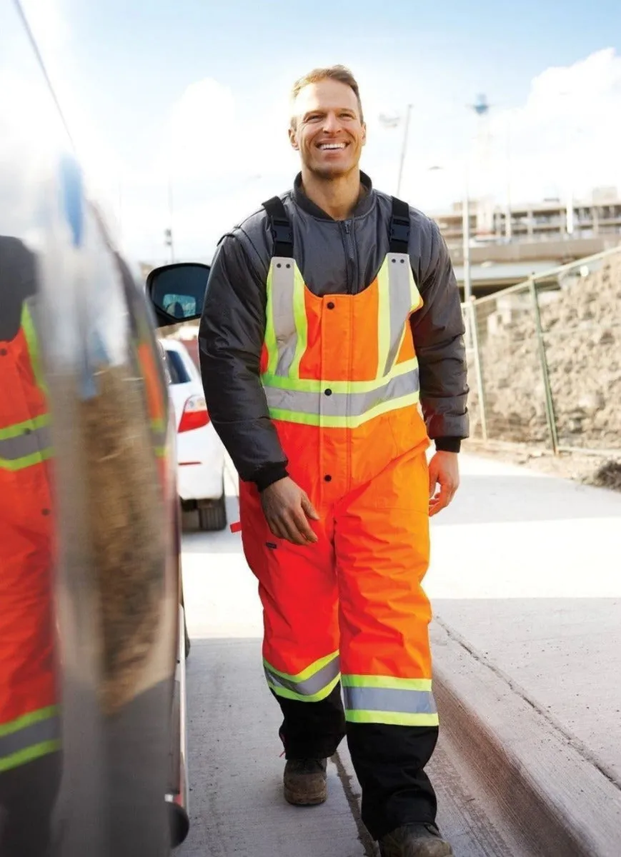
[[[621,786],[621,494],[486,458],[434,518],[437,620]]]

